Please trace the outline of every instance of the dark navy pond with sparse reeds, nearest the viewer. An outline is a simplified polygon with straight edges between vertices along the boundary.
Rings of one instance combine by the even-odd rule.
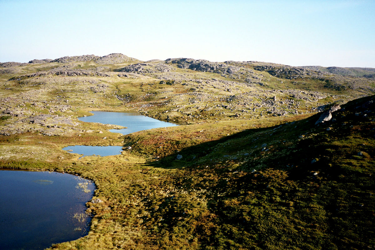
[[[0,170],[0,249],[45,249],[87,235],[94,189],[71,174]]]

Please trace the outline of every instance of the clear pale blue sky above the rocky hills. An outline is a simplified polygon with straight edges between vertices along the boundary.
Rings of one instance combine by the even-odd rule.
[[[375,1],[0,0],[0,62],[123,53],[375,67]]]

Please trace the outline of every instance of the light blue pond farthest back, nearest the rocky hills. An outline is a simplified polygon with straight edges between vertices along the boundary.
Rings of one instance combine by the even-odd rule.
[[[94,115],[78,118],[80,121],[90,123],[115,124],[127,127],[127,129],[111,129],[111,132],[127,135],[141,130],[156,129],[158,127],[178,126],[175,123],[159,121],[151,117],[141,115],[137,112],[107,112],[91,111]]]

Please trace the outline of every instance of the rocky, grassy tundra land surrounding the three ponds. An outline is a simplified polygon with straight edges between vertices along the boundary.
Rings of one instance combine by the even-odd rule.
[[[0,89],[0,166],[97,186],[89,234],[51,249],[375,248],[375,69],[84,55],[0,63]],[[77,119],[98,110],[181,126]]]

